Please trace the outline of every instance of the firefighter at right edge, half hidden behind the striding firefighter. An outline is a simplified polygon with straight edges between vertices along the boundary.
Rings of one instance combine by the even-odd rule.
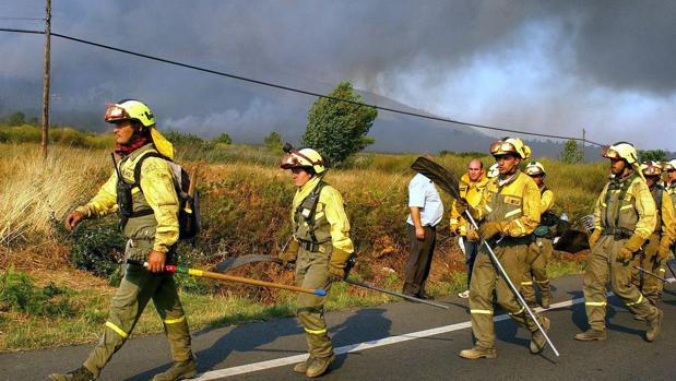
[[[671,253],[676,228],[672,198],[661,186],[662,166],[655,162],[641,164],[641,171],[656,205],[655,231],[635,258],[635,265],[662,277],[666,274],[666,260]],[[654,306],[662,299],[664,283],[635,269],[632,282]]]

